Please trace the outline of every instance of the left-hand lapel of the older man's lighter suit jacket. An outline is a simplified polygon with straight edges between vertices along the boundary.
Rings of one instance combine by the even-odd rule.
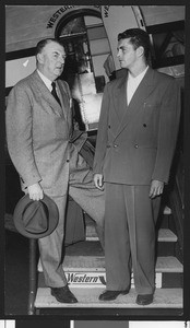
[[[46,102],[49,103],[50,107],[52,108],[52,110],[57,115],[63,116],[63,110],[62,110],[61,106],[55,99],[55,97],[52,96],[52,94],[50,93],[50,91],[48,90],[48,87],[46,86],[46,84],[40,79],[40,77],[37,73],[37,71],[35,71],[33,73],[33,81],[34,81],[34,87],[36,89],[36,93],[38,93],[38,95],[40,97],[45,98]]]

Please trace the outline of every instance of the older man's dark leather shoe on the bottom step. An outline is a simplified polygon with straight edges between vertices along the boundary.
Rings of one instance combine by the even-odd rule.
[[[68,285],[62,288],[51,288],[51,295],[60,303],[78,303],[78,300],[71,293]]]

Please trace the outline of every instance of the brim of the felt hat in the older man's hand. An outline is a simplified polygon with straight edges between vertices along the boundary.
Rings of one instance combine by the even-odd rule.
[[[24,224],[23,224],[23,220],[22,220],[22,213],[23,213],[25,207],[32,200],[29,199],[28,194],[23,196],[19,200],[19,202],[17,202],[17,204],[14,209],[14,213],[13,213],[14,225],[15,225],[17,232],[21,233],[25,237],[35,238],[35,239],[46,237],[46,236],[50,235],[58,225],[58,221],[59,221],[58,207],[51,198],[49,198],[47,195],[44,195],[44,198],[40,201],[44,202],[47,206],[48,211],[49,211],[48,229],[46,230],[46,232],[43,232],[43,233],[31,233],[31,232],[25,230]]]

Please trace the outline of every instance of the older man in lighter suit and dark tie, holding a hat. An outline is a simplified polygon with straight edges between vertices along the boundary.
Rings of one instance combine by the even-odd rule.
[[[39,239],[40,260],[51,294],[59,302],[75,303],[61,261],[67,197],[69,194],[96,221],[104,246],[104,194],[94,186],[92,169],[79,154],[85,139],[72,142],[72,98],[67,82],[57,80],[64,59],[64,48],[58,40],[38,43],[37,69],[9,95],[7,139],[23,190],[33,200],[46,194],[58,206],[56,231]]]

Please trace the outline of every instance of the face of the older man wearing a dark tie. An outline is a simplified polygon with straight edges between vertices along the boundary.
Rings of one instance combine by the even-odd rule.
[[[56,80],[62,73],[64,60],[64,48],[56,42],[48,43],[38,54],[39,69],[50,81]]]

